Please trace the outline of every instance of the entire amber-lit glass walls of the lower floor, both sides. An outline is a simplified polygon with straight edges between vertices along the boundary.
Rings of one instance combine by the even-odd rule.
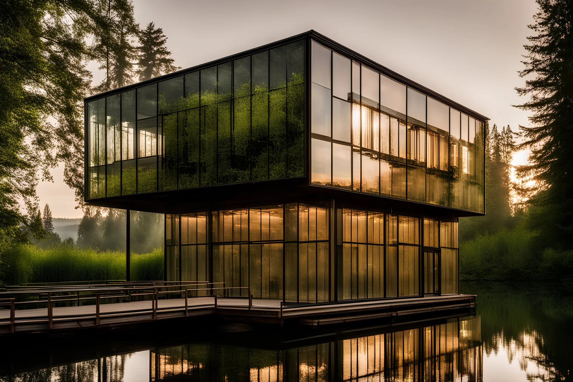
[[[457,222],[340,208],[335,259],[330,211],[285,203],[167,214],[167,280],[287,302],[421,296],[430,278],[439,283],[432,293],[458,293]],[[422,272],[427,250],[436,254],[431,273]]]

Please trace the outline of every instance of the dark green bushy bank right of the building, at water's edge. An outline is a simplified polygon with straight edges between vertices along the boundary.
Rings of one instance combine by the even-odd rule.
[[[573,282],[573,251],[537,249],[524,225],[460,243],[460,278],[481,281]]]

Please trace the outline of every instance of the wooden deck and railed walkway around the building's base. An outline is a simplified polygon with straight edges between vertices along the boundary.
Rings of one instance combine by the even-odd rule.
[[[452,295],[393,300],[344,301],[323,304],[284,304],[280,300],[253,300],[225,297],[193,297],[152,301],[120,302],[52,308],[52,329],[48,308],[16,309],[13,322],[10,309],[0,309],[0,334],[72,330],[97,326],[120,326],[170,318],[222,316],[237,321],[269,324],[332,325],[380,320],[420,314],[451,314],[475,307],[475,296]],[[98,322],[99,320],[99,322]]]

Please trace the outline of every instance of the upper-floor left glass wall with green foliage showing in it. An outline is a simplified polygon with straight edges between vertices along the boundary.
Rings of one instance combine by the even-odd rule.
[[[86,199],[304,176],[305,41],[87,103]]]

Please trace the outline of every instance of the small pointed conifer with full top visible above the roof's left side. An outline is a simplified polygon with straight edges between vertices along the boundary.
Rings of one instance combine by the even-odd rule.
[[[139,33],[139,61],[137,74],[140,81],[148,80],[180,69],[173,65],[171,52],[167,50],[167,37],[163,29],[156,28],[153,22]]]

